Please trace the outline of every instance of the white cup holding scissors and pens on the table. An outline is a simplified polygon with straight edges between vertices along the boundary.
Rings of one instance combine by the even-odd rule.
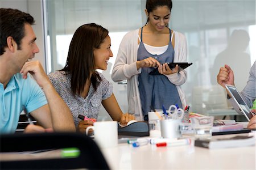
[[[163,138],[175,139],[180,138],[181,119],[161,120],[161,133]]]

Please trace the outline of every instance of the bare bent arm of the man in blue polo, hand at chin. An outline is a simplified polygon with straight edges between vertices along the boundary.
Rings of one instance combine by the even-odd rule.
[[[27,78],[30,73],[36,82],[42,87],[48,104],[31,112],[40,125],[44,128],[53,128],[55,131],[75,131],[72,114],[67,104],[57,94],[39,61],[29,61],[24,64],[20,73]]]

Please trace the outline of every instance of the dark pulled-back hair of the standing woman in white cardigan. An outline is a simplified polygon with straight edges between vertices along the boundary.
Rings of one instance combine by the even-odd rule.
[[[167,6],[169,10],[172,10],[172,1],[171,0],[147,0],[146,2],[146,10],[148,14],[154,11],[159,6]],[[148,18],[147,18],[148,22]],[[146,22],[146,24],[147,24]],[[145,24],[145,25],[146,25]]]

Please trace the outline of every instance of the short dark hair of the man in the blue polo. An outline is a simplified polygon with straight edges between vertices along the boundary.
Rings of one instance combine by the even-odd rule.
[[[24,24],[30,25],[35,23],[34,18],[25,12],[11,8],[0,8],[0,55],[5,52],[7,46],[7,37],[13,37],[20,50],[20,40],[24,37]]]

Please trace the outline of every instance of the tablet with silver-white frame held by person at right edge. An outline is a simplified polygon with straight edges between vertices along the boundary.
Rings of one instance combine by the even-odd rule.
[[[238,114],[245,115],[246,119],[250,121],[254,113],[251,112],[250,108],[245,103],[245,100],[243,100],[240,92],[237,91],[237,88],[235,86],[226,84],[225,87],[226,87],[226,90],[228,91],[229,96],[233,97],[234,99],[234,102],[232,102],[233,108],[236,110]]]

